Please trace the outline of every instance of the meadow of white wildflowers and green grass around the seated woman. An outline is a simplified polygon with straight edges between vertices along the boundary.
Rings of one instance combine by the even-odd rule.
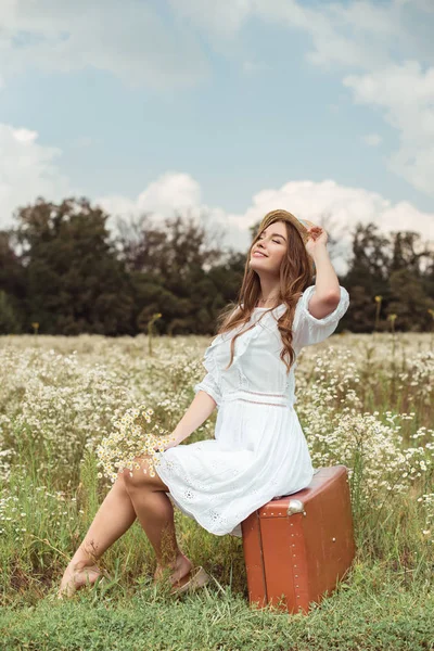
[[[110,583],[55,599],[111,486],[99,444],[138,404],[173,431],[207,343],[0,337],[0,649],[434,649],[430,333],[343,333],[301,353],[295,408],[314,465],[349,469],[357,544],[345,580],[307,616],[250,607],[242,540],[178,510],[178,541],[208,586],[179,600],[154,587],[154,553],[135,523],[103,557]],[[215,418],[181,445],[212,437]]]

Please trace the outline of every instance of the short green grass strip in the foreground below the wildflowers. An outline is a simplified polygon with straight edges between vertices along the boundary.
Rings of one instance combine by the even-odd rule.
[[[16,607],[20,605],[17,599]],[[46,598],[0,615],[0,649],[340,651],[434,648],[434,599],[405,573],[356,563],[347,582],[309,614],[248,608],[212,582],[174,600],[143,579],[119,577],[73,600]]]

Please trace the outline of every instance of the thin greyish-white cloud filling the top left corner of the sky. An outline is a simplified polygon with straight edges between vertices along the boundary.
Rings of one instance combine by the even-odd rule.
[[[207,74],[193,33],[181,25],[168,28],[152,5],[135,0],[3,1],[0,51],[5,78],[29,67],[62,73],[94,67],[132,87],[164,89]]]

